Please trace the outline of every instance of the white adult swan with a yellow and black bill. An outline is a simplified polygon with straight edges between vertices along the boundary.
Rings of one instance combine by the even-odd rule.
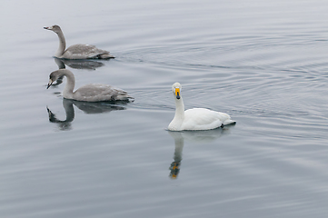
[[[175,115],[168,126],[168,130],[210,130],[223,127],[227,124],[235,124],[235,121],[230,119],[230,115],[221,112],[215,112],[205,108],[193,108],[184,111],[181,88],[182,86],[179,83],[172,85],[175,100]]]

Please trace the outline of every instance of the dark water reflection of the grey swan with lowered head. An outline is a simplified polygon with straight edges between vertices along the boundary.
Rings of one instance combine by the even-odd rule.
[[[71,130],[71,123],[75,119],[75,110],[73,104],[75,104],[75,106],[81,111],[84,111],[85,114],[101,114],[117,110],[125,110],[125,107],[116,104],[110,104],[109,102],[89,103],[64,98],[63,107],[66,114],[65,120],[58,119],[56,115],[48,108],[48,106],[46,106],[46,110],[49,115],[49,122],[58,124],[59,130]]]

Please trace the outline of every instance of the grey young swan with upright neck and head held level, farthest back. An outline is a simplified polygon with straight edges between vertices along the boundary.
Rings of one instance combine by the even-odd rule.
[[[64,59],[109,59],[114,58],[109,52],[96,48],[94,45],[76,44],[69,46],[66,50],[66,41],[62,29],[59,25],[44,27],[44,29],[54,31],[59,38],[59,47],[55,57]]]

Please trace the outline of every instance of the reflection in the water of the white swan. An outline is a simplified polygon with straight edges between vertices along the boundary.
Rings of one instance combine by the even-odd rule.
[[[224,128],[217,128],[214,130],[206,131],[168,131],[168,133],[174,138],[174,162],[171,163],[169,170],[170,178],[176,179],[180,173],[180,165],[183,160],[183,148],[184,140],[193,142],[195,144],[207,144],[214,142],[217,138],[224,134],[230,134],[230,128],[234,125],[224,126]]]

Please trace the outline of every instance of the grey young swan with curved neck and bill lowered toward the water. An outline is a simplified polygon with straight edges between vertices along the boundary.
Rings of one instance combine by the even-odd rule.
[[[128,101],[129,99],[134,99],[134,97],[127,94],[124,90],[114,88],[109,84],[85,84],[73,92],[75,76],[67,69],[59,69],[51,73],[47,88],[61,76],[66,76],[67,78],[63,91],[63,96],[66,99],[83,102]]]

